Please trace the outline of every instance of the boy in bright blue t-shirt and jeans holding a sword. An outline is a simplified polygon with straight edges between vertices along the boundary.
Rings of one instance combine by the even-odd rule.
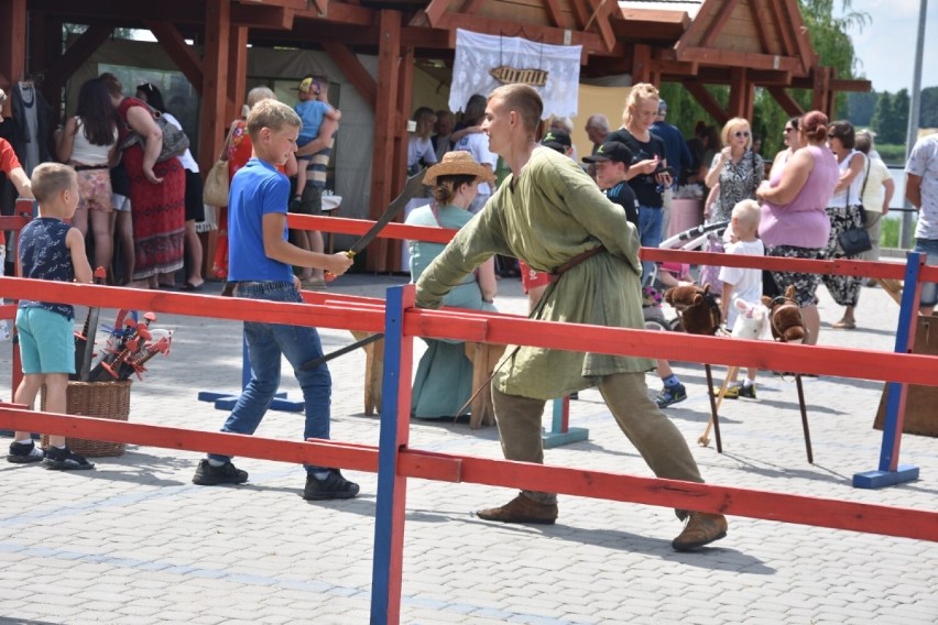
[[[228,282],[236,297],[302,303],[299,281],[292,265],[318,267],[342,275],[352,261],[345,253],[309,252],[290,243],[286,205],[290,180],[277,166],[296,152],[299,116],[276,100],[263,100],[248,116],[253,143],[251,160],[231,178],[228,204]],[[315,328],[244,321],[244,339],[251,362],[251,381],[244,387],[221,431],[251,435],[258,428],[280,384],[281,355],[286,357],[303,390],[306,423],[303,439],[329,438],[331,379],[326,364],[303,371],[301,366],[323,355]],[[358,484],[338,469],[306,467],[306,500],[349,498]],[[209,453],[201,460],[193,483],[204,486],[240,484],[248,472],[237,469],[228,456]]]

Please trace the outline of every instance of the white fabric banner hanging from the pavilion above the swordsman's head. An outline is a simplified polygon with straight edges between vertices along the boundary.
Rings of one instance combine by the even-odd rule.
[[[544,100],[544,118],[576,117],[580,81],[580,45],[550,45],[522,37],[483,35],[457,29],[449,109],[460,111],[475,94],[501,86],[490,69],[543,69],[547,83],[535,87]]]

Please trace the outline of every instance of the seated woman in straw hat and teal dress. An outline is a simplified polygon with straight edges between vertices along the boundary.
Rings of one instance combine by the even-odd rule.
[[[476,198],[479,184],[484,182],[493,182],[492,173],[473,161],[469,152],[444,154],[443,161],[430,167],[424,177],[424,184],[432,187],[434,201],[414,209],[407,216],[406,223],[456,230],[462,228],[472,218],[468,208]],[[407,245],[414,282],[445,248],[440,243],[424,241],[408,241]],[[444,305],[494,311],[492,299],[495,290],[494,262],[489,259],[446,296]],[[423,419],[460,416],[457,413],[472,393],[472,362],[466,358],[461,342],[424,340],[427,350],[417,365],[411,412]]]

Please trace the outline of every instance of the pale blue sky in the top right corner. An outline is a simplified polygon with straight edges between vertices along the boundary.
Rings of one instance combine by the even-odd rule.
[[[839,11],[840,1],[835,6]],[[869,13],[871,20],[862,31],[848,34],[860,59],[860,76],[872,80],[876,91],[895,94],[912,91],[915,72],[915,48],[918,37],[918,14],[921,0],[853,0],[853,11]],[[938,2],[928,2],[923,48],[921,88],[938,87]]]

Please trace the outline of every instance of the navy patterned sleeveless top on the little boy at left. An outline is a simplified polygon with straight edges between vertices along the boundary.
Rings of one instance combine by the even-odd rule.
[[[30,221],[20,234],[20,264],[23,277],[75,282],[72,252],[65,246],[65,235],[70,226],[58,219],[40,217]],[[70,304],[21,299],[20,308],[45,308],[58,312],[66,319],[75,318]]]

